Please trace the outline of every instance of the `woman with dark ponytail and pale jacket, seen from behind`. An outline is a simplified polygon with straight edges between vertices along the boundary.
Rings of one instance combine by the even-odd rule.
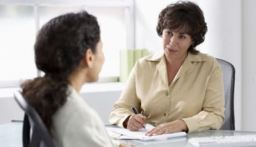
[[[112,142],[104,123],[79,91],[98,80],[104,63],[100,29],[86,11],[51,19],[35,42],[35,64],[44,76],[22,84],[56,146],[125,146]]]

